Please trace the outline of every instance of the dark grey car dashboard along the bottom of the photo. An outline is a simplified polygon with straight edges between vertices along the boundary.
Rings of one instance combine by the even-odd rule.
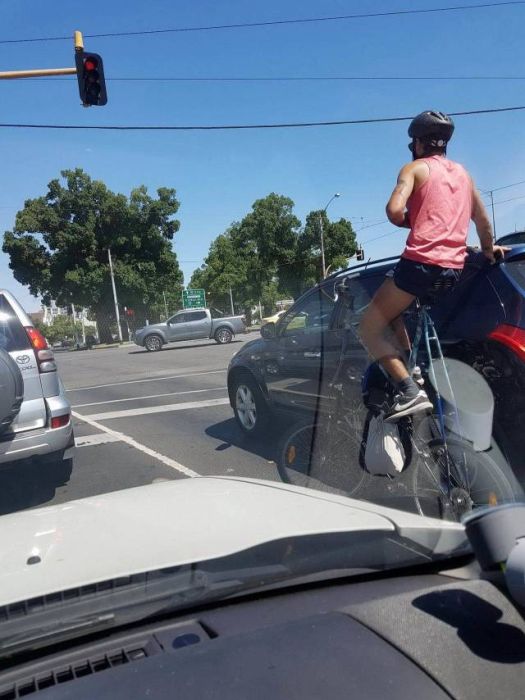
[[[274,590],[92,636],[0,675],[0,700],[518,698],[525,623],[474,564]]]

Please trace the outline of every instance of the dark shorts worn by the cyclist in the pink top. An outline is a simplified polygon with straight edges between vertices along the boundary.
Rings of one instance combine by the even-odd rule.
[[[401,258],[394,269],[393,280],[404,292],[425,299],[441,290],[451,290],[460,275],[461,270]]]

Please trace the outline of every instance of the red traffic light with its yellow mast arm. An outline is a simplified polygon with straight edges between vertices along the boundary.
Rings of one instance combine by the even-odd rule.
[[[76,75],[80,99],[85,107],[105,105],[108,101],[102,58],[84,53],[82,33],[76,31],[74,68],[35,68],[31,70],[0,71],[0,80],[18,80],[20,78],[48,78],[55,75]]]

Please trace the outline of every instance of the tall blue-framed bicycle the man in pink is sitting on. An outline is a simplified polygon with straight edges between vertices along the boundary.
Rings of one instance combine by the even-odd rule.
[[[368,424],[372,416],[391,405],[394,387],[382,367],[372,363],[363,376],[363,402],[360,406],[344,406],[341,377],[347,334],[351,332],[347,329],[339,365],[330,383],[330,391],[337,392],[335,409],[324,423],[293,427],[285,435],[278,463],[284,481],[362,497],[367,490],[374,491],[370,487],[372,482],[377,485],[378,480],[382,480],[383,491],[386,491],[390,482],[404,480],[406,484],[408,477],[408,493],[416,511],[420,515],[449,520],[460,520],[479,506],[515,500],[515,486],[497,461],[487,451],[475,449],[461,429],[447,361],[429,314],[429,301],[450,288],[451,285],[436,288],[429,300],[423,303],[416,300],[414,304],[415,332],[408,368],[410,372],[416,366],[421,368],[422,382],[434,408],[430,414],[416,414],[398,421],[399,439],[406,455],[402,472],[395,476],[377,476],[366,470],[364,450]],[[339,285],[338,294],[344,303],[344,282]],[[346,302],[350,307],[349,300]],[[424,358],[420,352],[422,345],[426,351]],[[436,372],[436,366],[441,368],[440,372]],[[441,375],[440,380],[437,374]],[[444,400],[443,388],[440,389],[443,381],[449,401]],[[327,474],[340,476],[342,472],[345,478],[339,479],[334,489],[333,484],[327,482]]]

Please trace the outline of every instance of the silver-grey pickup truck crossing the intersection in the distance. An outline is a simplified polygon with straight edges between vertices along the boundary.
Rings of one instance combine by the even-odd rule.
[[[179,311],[164,323],[144,326],[136,331],[134,341],[149,352],[162,350],[166,343],[181,340],[213,339],[224,345],[234,336],[246,331],[244,316],[220,316],[214,318],[209,309]]]

